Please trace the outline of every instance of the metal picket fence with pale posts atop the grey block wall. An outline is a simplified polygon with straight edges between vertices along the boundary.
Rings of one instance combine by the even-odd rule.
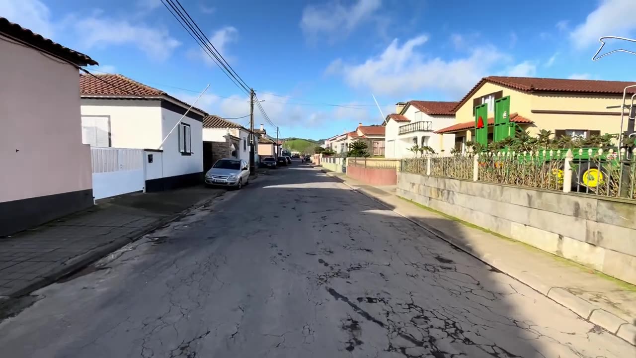
[[[519,187],[636,199],[636,149],[499,152],[403,159],[400,170]]]

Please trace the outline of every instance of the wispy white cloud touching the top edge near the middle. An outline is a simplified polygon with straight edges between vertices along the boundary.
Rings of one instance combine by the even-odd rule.
[[[303,9],[300,27],[309,36],[326,34],[331,39],[335,39],[335,36],[342,38],[357,25],[369,20],[381,5],[381,0],[357,0],[351,6],[338,1],[308,5]]]

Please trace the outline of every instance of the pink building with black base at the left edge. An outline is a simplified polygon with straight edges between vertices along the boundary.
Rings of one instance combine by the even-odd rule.
[[[0,236],[93,204],[78,67],[93,59],[0,17]]]

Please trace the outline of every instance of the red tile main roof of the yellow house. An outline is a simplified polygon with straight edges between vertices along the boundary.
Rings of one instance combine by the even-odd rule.
[[[534,78],[534,77],[504,77],[488,76],[481,78],[461,101],[457,102],[454,110],[473,96],[473,93],[483,85],[490,82],[522,92],[559,92],[579,94],[623,94],[625,87],[636,85],[636,82],[625,81],[599,81],[599,80],[567,80],[564,78]],[[636,87],[629,89],[628,93],[636,93]]]

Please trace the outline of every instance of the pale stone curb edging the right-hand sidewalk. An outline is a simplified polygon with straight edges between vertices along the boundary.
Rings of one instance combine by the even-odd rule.
[[[323,173],[326,173],[327,175],[331,173],[327,169],[321,169],[321,171]],[[335,175],[329,175],[329,176],[335,177]],[[347,183],[345,180],[342,180],[342,183],[347,185],[347,187],[350,187],[355,192],[370,198],[371,200],[381,204],[382,206],[385,206],[386,208],[391,209],[394,213],[397,213],[397,215],[400,215],[401,217],[406,218],[406,220],[413,222],[413,224],[419,227],[422,227],[422,229],[424,229],[425,231],[428,231],[429,233],[433,234],[437,238],[446,241],[453,247],[459,248],[460,250],[473,256],[474,258],[480,260],[481,262],[484,262],[492,266],[493,268],[498,269],[502,273],[510,276],[511,278],[514,278],[518,282],[521,282],[527,285],[528,287],[530,287],[531,289],[536,290],[537,292],[543,294],[543,296],[550,298],[552,301],[555,301],[556,303],[576,313],[582,319],[588,320],[591,323],[604,328],[609,333],[614,334],[615,336],[618,336],[619,338],[622,338],[623,340],[627,341],[631,345],[636,346],[636,326],[634,324],[631,324],[630,322],[626,322],[624,319],[621,319],[620,317],[614,315],[613,313],[605,311],[604,309],[598,306],[595,306],[594,304],[588,301],[585,301],[581,297],[571,294],[570,292],[568,292],[565,289],[562,289],[561,287],[549,287],[544,285],[542,282],[539,282],[539,280],[531,278],[530,276],[523,276],[523,275],[516,275],[513,273],[509,273],[505,269],[501,269],[497,267],[497,261],[495,259],[491,257],[487,257],[485,255],[480,255],[476,250],[474,250],[473,247],[471,247],[471,245],[460,243],[458,240],[455,240],[452,236],[448,236],[445,233],[442,233],[441,231],[435,229],[434,227],[428,226],[424,222],[420,222],[420,220],[416,220],[401,214],[399,211],[390,208],[387,204],[382,202],[382,199],[376,197],[373,193],[367,192],[363,188],[355,187],[354,185]]]

